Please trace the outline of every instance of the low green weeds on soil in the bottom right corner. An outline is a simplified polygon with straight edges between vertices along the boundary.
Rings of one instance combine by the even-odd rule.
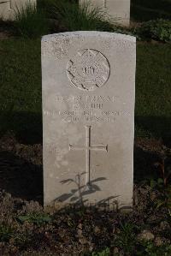
[[[141,241],[139,245],[139,251],[136,255],[144,256],[170,256],[171,255],[171,245],[163,244],[160,247],[152,241]]]

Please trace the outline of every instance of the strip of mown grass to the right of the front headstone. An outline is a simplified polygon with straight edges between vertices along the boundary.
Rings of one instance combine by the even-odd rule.
[[[137,47],[136,134],[171,139],[171,47],[140,43]]]

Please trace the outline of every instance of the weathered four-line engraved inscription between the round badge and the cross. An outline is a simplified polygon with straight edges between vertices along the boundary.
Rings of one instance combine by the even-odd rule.
[[[56,95],[56,108],[44,109],[44,116],[53,119],[60,116],[62,122],[115,122],[117,118],[129,118],[125,103],[116,108],[118,98],[112,95]],[[67,108],[66,108],[67,105]]]

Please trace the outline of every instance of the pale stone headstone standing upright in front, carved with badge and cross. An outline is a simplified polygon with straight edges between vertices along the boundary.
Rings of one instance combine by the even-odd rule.
[[[45,206],[132,206],[135,59],[123,34],[43,37]]]

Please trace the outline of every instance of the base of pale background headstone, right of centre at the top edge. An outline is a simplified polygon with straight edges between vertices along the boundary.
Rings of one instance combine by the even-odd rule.
[[[87,0],[80,0],[80,4],[86,2]],[[129,26],[130,0],[91,0],[90,3],[103,8],[116,23]]]

